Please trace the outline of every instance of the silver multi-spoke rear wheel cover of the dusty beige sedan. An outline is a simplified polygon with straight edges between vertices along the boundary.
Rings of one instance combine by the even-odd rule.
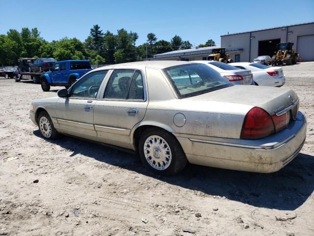
[[[157,135],[152,135],[146,139],[144,155],[148,164],[158,171],[167,169],[172,159],[168,143]]]

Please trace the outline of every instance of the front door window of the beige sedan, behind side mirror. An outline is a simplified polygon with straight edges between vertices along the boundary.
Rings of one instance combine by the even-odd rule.
[[[107,72],[107,70],[95,71],[79,79],[73,86],[70,97],[96,98],[99,87]]]

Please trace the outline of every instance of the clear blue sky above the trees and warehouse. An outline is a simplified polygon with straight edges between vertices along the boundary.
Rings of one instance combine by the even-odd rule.
[[[98,24],[105,32],[138,33],[137,45],[153,32],[158,40],[175,35],[194,46],[220,35],[314,21],[314,0],[1,0],[0,34],[37,27],[48,40],[81,41]],[[278,15],[278,17],[276,17]]]

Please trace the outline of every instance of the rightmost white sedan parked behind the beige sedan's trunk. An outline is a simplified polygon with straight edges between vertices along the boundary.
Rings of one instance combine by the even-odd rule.
[[[282,87],[286,83],[286,77],[281,67],[252,62],[235,62],[230,64],[239,69],[251,70],[255,85]]]

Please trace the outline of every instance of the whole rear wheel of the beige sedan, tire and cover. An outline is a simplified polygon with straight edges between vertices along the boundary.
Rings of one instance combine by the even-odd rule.
[[[138,151],[143,164],[158,175],[175,175],[187,163],[178,140],[162,129],[145,130],[139,139]]]

